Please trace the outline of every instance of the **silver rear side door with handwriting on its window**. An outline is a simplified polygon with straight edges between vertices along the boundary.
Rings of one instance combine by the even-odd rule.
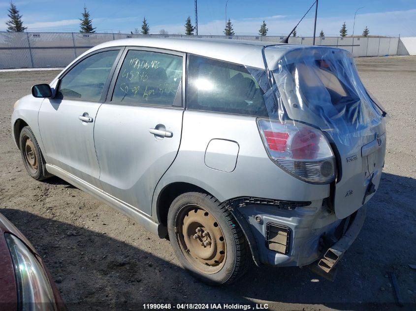
[[[179,149],[184,54],[127,48],[96,116],[102,189],[151,215],[152,197]]]

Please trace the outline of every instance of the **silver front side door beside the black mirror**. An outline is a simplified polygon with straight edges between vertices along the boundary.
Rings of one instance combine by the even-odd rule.
[[[48,163],[99,188],[94,124],[121,53],[113,48],[81,58],[60,77],[55,98],[45,99],[38,115]]]

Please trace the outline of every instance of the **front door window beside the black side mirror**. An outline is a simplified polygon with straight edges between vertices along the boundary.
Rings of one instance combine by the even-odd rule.
[[[100,52],[75,65],[61,79],[58,98],[100,100],[104,84],[118,54],[118,50]]]

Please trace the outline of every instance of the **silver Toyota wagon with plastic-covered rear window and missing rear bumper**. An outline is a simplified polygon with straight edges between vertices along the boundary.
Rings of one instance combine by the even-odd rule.
[[[85,52],[11,125],[34,179],[104,201],[222,284],[252,261],[333,275],[379,186],[385,116],[347,51],[163,38]]]

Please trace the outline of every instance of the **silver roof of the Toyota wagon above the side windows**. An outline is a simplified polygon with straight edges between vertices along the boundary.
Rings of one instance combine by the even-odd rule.
[[[264,68],[261,50],[284,43],[209,38],[128,38],[108,41],[87,51],[117,46],[148,47],[191,53],[251,67]]]

